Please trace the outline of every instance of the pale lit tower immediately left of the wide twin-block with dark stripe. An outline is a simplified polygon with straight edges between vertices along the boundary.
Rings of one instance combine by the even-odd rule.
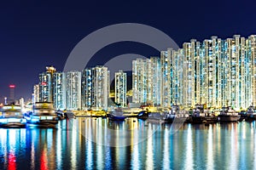
[[[66,73],[67,110],[81,109],[81,72],[68,71]]]

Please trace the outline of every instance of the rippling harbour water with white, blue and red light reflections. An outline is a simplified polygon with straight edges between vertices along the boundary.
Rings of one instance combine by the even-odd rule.
[[[1,128],[0,169],[256,169],[255,122],[184,123],[176,133],[171,126],[80,118],[55,128]]]

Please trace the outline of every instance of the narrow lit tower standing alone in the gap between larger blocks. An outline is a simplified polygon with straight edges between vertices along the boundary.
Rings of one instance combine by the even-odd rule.
[[[126,73],[123,71],[115,72],[114,101],[121,107],[126,106]]]

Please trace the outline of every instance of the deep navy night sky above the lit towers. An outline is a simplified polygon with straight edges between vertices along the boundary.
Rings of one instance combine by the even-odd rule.
[[[0,98],[31,97],[46,65],[62,71],[73,47],[92,31],[117,23],[154,26],[177,42],[256,33],[253,1],[6,1],[0,4]],[[136,42],[119,42],[97,53],[90,65],[125,53],[159,55]],[[104,58],[104,59],[103,59]]]

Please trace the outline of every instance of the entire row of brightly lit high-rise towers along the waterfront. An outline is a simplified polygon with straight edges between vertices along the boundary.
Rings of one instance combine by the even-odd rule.
[[[133,60],[132,102],[165,107],[182,105],[185,108],[195,107],[197,104],[206,104],[207,107],[212,108],[230,105],[236,111],[246,110],[250,105],[256,104],[254,88],[256,66],[253,64],[256,58],[255,39],[254,35],[247,38],[234,35],[227,39],[213,36],[203,42],[191,39],[190,42],[183,43],[183,48],[177,50],[168,48],[166,51],[161,51],[160,57]],[[55,88],[49,88],[55,84],[51,78],[55,77],[55,68],[46,67],[46,69],[45,73],[39,74],[39,87],[43,87],[39,88],[39,94],[45,96],[40,96],[38,99],[58,103],[52,100],[55,95],[51,90]],[[55,108],[107,110],[111,84],[108,68],[97,65],[74,72],[79,73],[79,79],[74,83],[78,85],[76,93],[79,95],[65,94],[65,88],[64,90],[61,88],[64,92],[61,96],[67,95],[67,99],[62,99],[67,101],[67,106],[62,104],[62,107],[55,106]],[[58,74],[64,75],[63,72]],[[46,83],[47,80],[51,82]],[[64,82],[63,79],[59,84],[62,86],[66,84],[65,86],[68,87],[68,81]],[[126,105],[126,87],[126,73],[115,72],[114,101],[122,107]],[[44,92],[44,88],[47,92]],[[34,89],[35,95],[38,89]],[[73,96],[76,99],[73,99]],[[69,106],[69,99],[76,100],[77,105]]]

